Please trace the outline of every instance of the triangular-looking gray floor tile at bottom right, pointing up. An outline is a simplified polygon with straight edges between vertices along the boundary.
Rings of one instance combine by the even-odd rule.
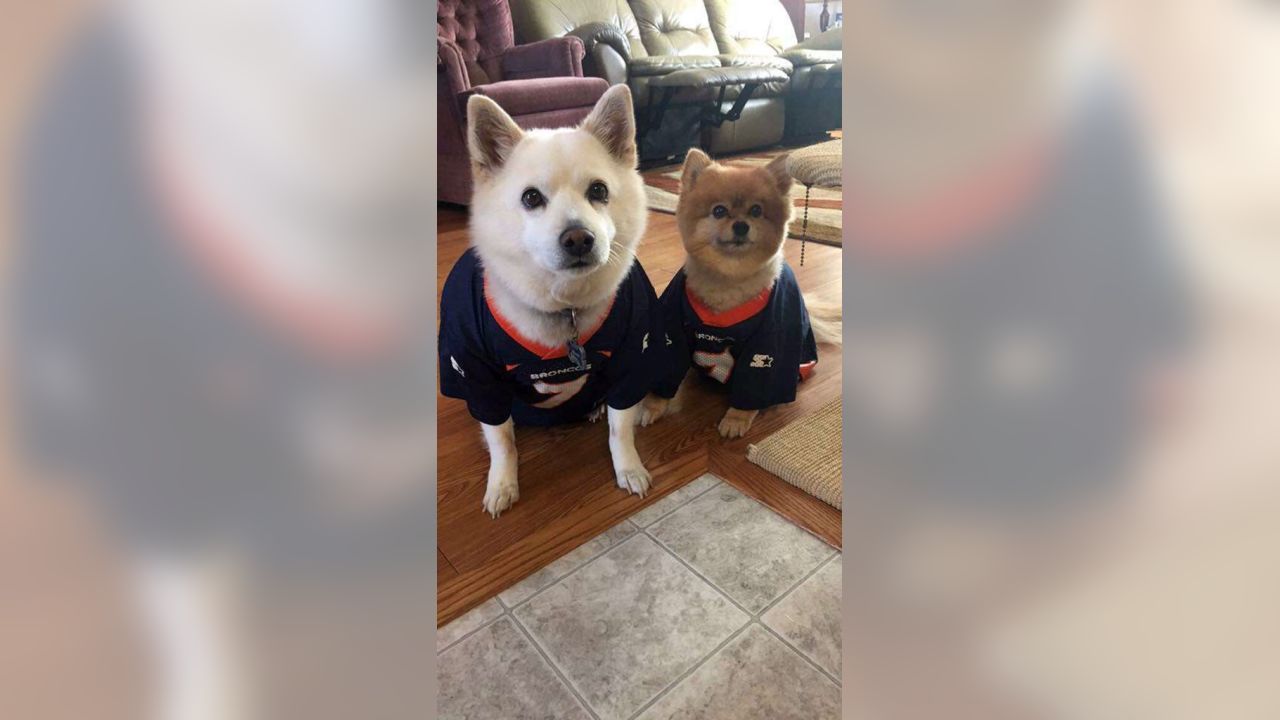
[[[756,624],[640,715],[641,720],[837,720],[840,688]]]

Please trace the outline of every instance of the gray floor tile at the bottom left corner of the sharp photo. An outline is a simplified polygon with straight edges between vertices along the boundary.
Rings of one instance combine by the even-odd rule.
[[[442,719],[590,719],[511,618],[444,651],[438,676]]]

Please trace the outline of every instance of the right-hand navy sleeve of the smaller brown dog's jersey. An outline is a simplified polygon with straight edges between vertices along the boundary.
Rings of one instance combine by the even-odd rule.
[[[817,359],[800,287],[783,266],[765,322],[742,341],[730,380],[730,406],[763,410],[796,398],[800,365]],[[810,352],[813,352],[810,355]]]

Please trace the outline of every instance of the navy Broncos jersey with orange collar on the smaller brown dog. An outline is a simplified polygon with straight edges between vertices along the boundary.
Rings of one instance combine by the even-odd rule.
[[[796,384],[818,363],[809,313],[786,263],[772,287],[723,313],[689,290],[681,269],[662,293],[662,305],[673,356],[654,391],[662,397],[675,397],[694,365],[728,387],[732,407],[760,410],[794,401]]]

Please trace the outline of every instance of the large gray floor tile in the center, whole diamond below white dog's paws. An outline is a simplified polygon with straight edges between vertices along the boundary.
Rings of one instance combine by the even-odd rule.
[[[646,536],[515,615],[604,720],[628,717],[749,620]]]

